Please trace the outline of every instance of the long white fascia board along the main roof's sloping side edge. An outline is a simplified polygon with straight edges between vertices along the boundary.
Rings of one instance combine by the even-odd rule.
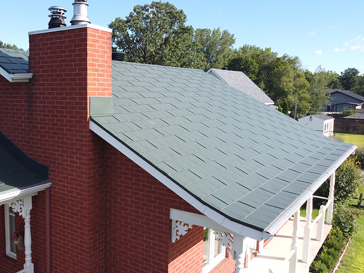
[[[134,163],[136,163],[141,168],[143,168],[145,171],[150,173],[153,177],[158,179],[163,185],[165,185],[167,188],[169,188],[171,191],[173,191],[179,197],[184,199],[186,202],[191,204],[202,214],[206,215],[213,222],[221,225],[224,228],[224,230],[229,230],[234,234],[246,236],[249,238],[254,238],[256,240],[269,239],[271,237],[269,234],[254,230],[252,228],[249,228],[248,226],[244,226],[243,224],[234,222],[234,221],[226,218],[222,214],[218,213],[217,211],[213,210],[212,208],[206,206],[201,201],[199,201],[194,196],[192,196],[190,193],[188,193],[185,189],[181,188],[176,183],[174,183],[174,181],[172,181],[169,177],[167,177],[162,172],[160,172],[156,167],[154,167],[149,162],[144,160],[140,155],[136,154],[129,147],[125,146],[119,140],[114,138],[113,135],[111,135],[109,132],[104,130],[96,122],[94,122],[93,120],[90,120],[89,122],[90,122],[89,123],[90,130],[95,132],[97,135],[100,136],[100,138],[105,140],[107,143],[109,143],[111,146],[113,146],[119,152],[124,154],[126,157],[128,157],[130,160],[132,160]],[[178,220],[178,219],[175,219],[175,220]],[[186,222],[190,223],[189,220],[187,220]]]

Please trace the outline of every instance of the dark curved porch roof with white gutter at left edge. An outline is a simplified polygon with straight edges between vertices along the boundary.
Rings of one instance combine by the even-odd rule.
[[[50,187],[48,170],[0,132],[0,205]]]

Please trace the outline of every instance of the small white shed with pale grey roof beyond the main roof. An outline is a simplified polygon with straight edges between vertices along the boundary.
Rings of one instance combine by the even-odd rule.
[[[322,132],[326,136],[333,135],[334,118],[324,114],[310,115],[299,118],[298,122],[303,123],[307,127]]]

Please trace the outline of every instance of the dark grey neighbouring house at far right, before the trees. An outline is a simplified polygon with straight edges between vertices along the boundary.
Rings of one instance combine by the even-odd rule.
[[[361,109],[364,97],[344,90],[331,90],[329,92],[331,103],[326,106],[327,112],[342,112],[344,110]]]

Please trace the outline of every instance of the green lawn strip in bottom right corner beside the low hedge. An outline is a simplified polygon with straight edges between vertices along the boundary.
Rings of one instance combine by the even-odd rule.
[[[364,185],[359,192],[364,193]],[[352,204],[357,204],[354,200]],[[363,203],[361,203],[363,205]],[[360,208],[361,215],[357,218],[359,230],[351,237],[350,244],[336,273],[364,272],[364,209]]]

